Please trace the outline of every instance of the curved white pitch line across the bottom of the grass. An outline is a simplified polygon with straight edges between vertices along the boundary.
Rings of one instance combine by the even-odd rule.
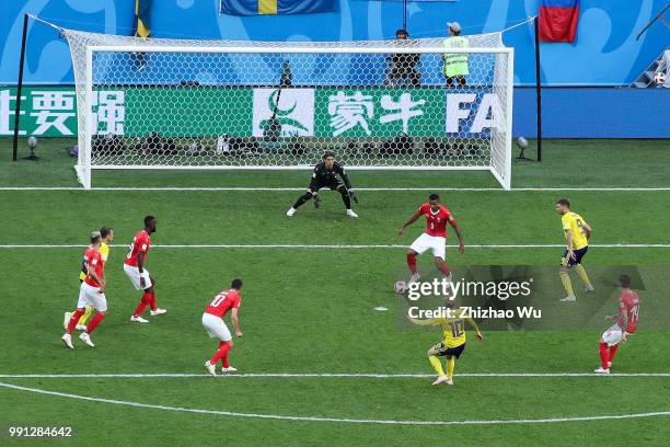
[[[197,413],[197,414],[215,414],[221,416],[233,417],[250,417],[276,421],[300,421],[300,422],[336,422],[350,424],[376,424],[376,425],[520,425],[520,424],[548,424],[557,422],[585,422],[585,421],[609,421],[609,420],[626,420],[639,417],[659,417],[670,416],[670,411],[656,411],[646,413],[629,413],[629,414],[612,414],[612,415],[596,415],[596,416],[576,416],[576,417],[545,417],[545,419],[522,419],[522,420],[490,420],[490,421],[393,421],[393,420],[361,420],[348,417],[319,417],[319,416],[289,416],[279,414],[259,414],[259,413],[241,413],[222,410],[201,410],[189,409],[184,406],[157,405],[140,402],[130,402],[116,399],[92,398],[89,396],[71,394],[59,391],[48,391],[39,388],[20,387],[11,383],[0,382],[0,387],[18,391],[33,392],[37,394],[54,396],[58,398],[77,399],[88,402],[111,403],[115,405],[134,406],[141,409],[163,410],[181,413]]]

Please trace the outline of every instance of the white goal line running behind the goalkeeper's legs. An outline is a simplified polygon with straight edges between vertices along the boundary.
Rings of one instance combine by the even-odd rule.
[[[221,192],[294,192],[304,191],[304,187],[245,187],[245,186],[101,186],[84,190],[78,186],[0,186],[0,191],[221,191]],[[447,191],[447,192],[662,192],[670,191],[670,186],[659,187],[516,187],[506,191],[500,187],[356,187],[356,191],[366,192],[404,192],[404,191]]]

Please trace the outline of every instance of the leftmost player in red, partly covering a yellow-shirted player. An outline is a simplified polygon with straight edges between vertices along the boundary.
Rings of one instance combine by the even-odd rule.
[[[91,332],[97,328],[100,322],[107,314],[104,261],[99,250],[101,241],[102,237],[100,236],[100,231],[92,232],[91,247],[86,248],[84,251],[83,262],[86,266],[86,277],[81,283],[79,288],[77,310],[72,312],[72,317],[70,318],[66,333],[61,337],[62,343],[70,349],[74,348],[72,345],[72,331],[74,330],[74,326],[77,325],[77,322],[81,316],[84,314],[86,307],[95,308],[97,313],[86,326],[85,332],[82,332],[81,335],[79,335],[79,339],[91,347],[95,346],[91,341]]]

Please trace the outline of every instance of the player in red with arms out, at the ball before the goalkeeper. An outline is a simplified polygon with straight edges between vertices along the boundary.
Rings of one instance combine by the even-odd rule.
[[[416,270],[416,255],[423,254],[427,250],[432,252],[435,256],[435,264],[437,267],[451,280],[451,271],[444,262],[446,243],[447,243],[447,224],[449,224],[453,231],[459,238],[459,252],[462,254],[465,251],[463,243],[463,236],[457,225],[455,218],[447,209],[446,206],[440,204],[440,196],[437,194],[430,194],[428,196],[428,203],[423,204],[417,211],[415,211],[409,219],[397,230],[397,236],[402,237],[406,227],[414,224],[419,217],[426,216],[426,231],[419,236],[409,247],[407,251],[407,266],[412,272],[409,283],[414,283],[420,279],[420,276]]]

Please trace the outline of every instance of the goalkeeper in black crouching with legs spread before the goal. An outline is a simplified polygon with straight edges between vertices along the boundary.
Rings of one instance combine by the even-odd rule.
[[[338,175],[342,179],[338,179]],[[346,174],[342,164],[335,161],[335,152],[330,150],[324,152],[323,161],[314,167],[312,181],[310,182],[308,192],[296,200],[296,204],[291,207],[291,209],[286,211],[286,215],[288,217],[292,217],[298,208],[310,198],[314,199],[314,207],[319,208],[321,205],[319,190],[322,187],[330,187],[333,191],[339,192],[339,194],[342,194],[342,202],[344,202],[345,207],[347,208],[347,216],[358,217],[358,215],[351,210],[351,199],[356,200],[356,203],[358,203],[358,199],[356,198],[354,190],[351,188],[349,176]]]

